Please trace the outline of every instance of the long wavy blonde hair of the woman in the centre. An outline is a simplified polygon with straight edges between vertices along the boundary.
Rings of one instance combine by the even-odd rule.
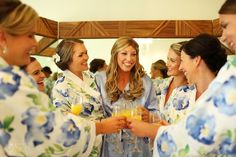
[[[124,50],[128,46],[132,46],[137,53],[137,60],[134,67],[131,69],[131,77],[129,82],[129,91],[124,93],[125,99],[135,100],[143,94],[143,80],[142,77],[145,75],[143,66],[139,63],[139,45],[138,43],[130,37],[120,37],[114,43],[111,49],[111,59],[110,64],[107,68],[107,81],[105,84],[106,92],[108,97],[112,102],[115,102],[119,99],[122,91],[118,88],[118,63],[117,55],[118,52]]]

